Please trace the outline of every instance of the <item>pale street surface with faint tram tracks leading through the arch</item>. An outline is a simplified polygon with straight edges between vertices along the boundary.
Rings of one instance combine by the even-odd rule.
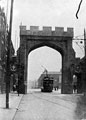
[[[13,120],[81,120],[79,95],[29,91],[22,98]]]

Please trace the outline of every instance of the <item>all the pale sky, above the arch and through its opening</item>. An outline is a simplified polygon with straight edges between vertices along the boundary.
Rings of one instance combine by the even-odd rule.
[[[11,0],[0,1],[0,4],[5,7],[5,12],[8,13],[8,23],[10,1]],[[74,38],[76,38],[76,36],[79,36],[78,38],[83,38],[84,28],[86,28],[86,0],[83,0],[81,9],[78,14],[79,19],[76,19],[75,14],[78,9],[79,3],[80,0],[14,0],[12,41],[15,49],[17,50],[17,48],[19,47],[19,26],[21,25],[21,23],[22,25],[26,25],[27,29],[29,29],[30,26],[39,26],[40,29],[42,29],[43,26],[52,26],[52,29],[54,29],[55,27],[64,27],[65,30],[67,27],[73,27]],[[84,44],[81,44],[80,41],[77,42],[74,40],[73,48],[76,52],[76,57],[83,57],[83,45]],[[45,57],[42,58],[41,52],[46,53]],[[60,70],[61,55],[50,48],[40,48],[31,52],[28,58],[31,63],[31,76],[35,76],[35,72],[33,70],[34,68],[37,68],[36,70],[41,72],[43,70],[42,67],[40,68],[40,65],[38,67],[38,65],[36,65],[34,62],[34,58],[36,63],[38,62],[38,54],[40,58],[42,58],[42,60],[39,60],[41,61],[40,64],[44,65],[49,70],[58,70],[56,66],[59,66]],[[47,65],[45,65],[46,56],[48,56],[49,60],[52,59],[53,56],[54,69],[51,69],[52,67],[50,67],[51,63],[49,64],[49,61],[47,62]]]

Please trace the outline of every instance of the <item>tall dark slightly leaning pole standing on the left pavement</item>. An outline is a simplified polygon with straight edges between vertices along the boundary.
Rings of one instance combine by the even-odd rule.
[[[10,23],[7,37],[7,63],[6,63],[6,108],[9,108],[9,91],[10,91],[10,45],[12,32],[12,17],[13,17],[13,1],[11,0]]]

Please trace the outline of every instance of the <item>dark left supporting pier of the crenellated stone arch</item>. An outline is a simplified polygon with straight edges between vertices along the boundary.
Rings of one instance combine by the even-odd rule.
[[[27,48],[26,46],[21,46],[18,53],[18,85],[19,93],[27,93]]]

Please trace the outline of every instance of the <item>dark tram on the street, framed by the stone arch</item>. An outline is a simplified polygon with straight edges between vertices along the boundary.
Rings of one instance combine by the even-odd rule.
[[[52,92],[52,90],[53,90],[53,79],[48,76],[44,77],[41,92]]]

